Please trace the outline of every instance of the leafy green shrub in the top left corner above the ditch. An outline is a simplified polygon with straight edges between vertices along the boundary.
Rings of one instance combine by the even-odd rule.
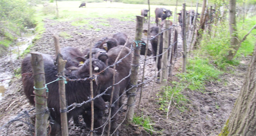
[[[0,5],[0,38],[11,41],[1,45],[9,46],[27,28],[35,27],[35,11],[27,0],[0,0]]]

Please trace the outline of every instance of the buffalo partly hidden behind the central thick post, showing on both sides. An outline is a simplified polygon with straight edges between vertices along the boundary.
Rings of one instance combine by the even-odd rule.
[[[113,38],[115,38],[117,40],[118,45],[125,45],[125,42],[128,38],[128,36],[125,33],[115,33],[113,35]],[[145,41],[142,41],[143,44],[141,44],[141,49],[140,49],[140,55],[145,55],[145,50],[146,50],[146,43]],[[126,43],[126,47],[131,48],[131,43],[128,41],[128,43]],[[152,55],[152,51],[148,48],[148,56]]]

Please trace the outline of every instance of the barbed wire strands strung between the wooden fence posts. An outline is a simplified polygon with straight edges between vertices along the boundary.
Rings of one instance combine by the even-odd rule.
[[[172,32],[172,30],[174,29],[174,27],[178,27],[178,26],[179,26],[179,25],[171,25],[170,27],[163,29],[160,33],[158,33],[157,35],[155,35],[155,36],[153,36],[153,37],[151,37],[151,38],[149,38],[149,39],[147,39],[147,40],[153,40],[153,39],[154,39],[155,37],[157,37],[157,36],[160,37],[160,35],[162,35],[164,32],[169,31],[169,30]],[[172,44],[168,45],[167,50],[163,51],[163,52],[162,52],[161,54],[159,54],[159,55],[151,56],[151,57],[148,57],[148,58],[143,58],[143,57],[141,57],[139,54],[136,54],[136,53],[135,53],[135,50],[138,50],[138,48],[132,47],[131,50],[130,50],[130,52],[129,52],[128,54],[126,54],[123,58],[120,58],[120,59],[119,59],[118,61],[116,61],[113,65],[107,66],[104,70],[100,71],[100,72],[97,73],[97,74],[94,74],[94,75],[92,75],[92,76],[90,76],[90,77],[87,77],[87,78],[84,78],[84,79],[70,79],[69,77],[66,77],[66,76],[64,76],[64,78],[66,78],[66,81],[68,81],[68,82],[72,82],[72,81],[81,81],[81,80],[83,80],[83,81],[86,81],[86,80],[94,80],[95,78],[97,78],[98,76],[100,76],[101,73],[103,73],[107,68],[111,68],[111,67],[113,67],[113,66],[116,66],[116,65],[120,64],[120,63],[122,62],[122,60],[125,59],[128,55],[133,54],[133,55],[135,55],[135,56],[140,56],[140,59],[144,59],[145,61],[148,61],[148,60],[150,60],[150,59],[152,59],[152,58],[158,58],[158,57],[162,56],[163,54],[168,54],[168,52],[170,52],[170,51],[168,51],[168,50],[173,49],[173,46],[174,46],[175,43],[177,43],[177,42],[178,42],[178,41],[173,41]],[[139,45],[140,45],[140,43],[139,43]],[[158,45],[158,46],[159,46],[159,45]],[[167,61],[167,62],[168,62],[168,61]],[[156,62],[156,64],[157,64],[157,62]],[[172,66],[173,66],[174,64],[175,64],[175,63],[172,63]],[[143,66],[143,69],[145,69],[145,65]],[[155,66],[155,69],[157,69],[157,65]],[[131,85],[131,87],[130,87],[129,89],[125,90],[125,91],[118,97],[118,99],[117,99],[116,101],[113,101],[113,103],[110,105],[110,107],[113,107],[113,106],[116,104],[116,102],[117,102],[124,94],[126,94],[127,92],[129,92],[131,89],[133,89],[133,88],[138,88],[139,86],[141,86],[141,85],[143,85],[143,84],[146,84],[146,83],[150,83],[150,82],[152,82],[152,81],[153,81],[153,83],[154,83],[154,82],[155,82],[155,78],[157,78],[158,73],[160,73],[163,69],[168,69],[168,65],[165,65],[165,67],[162,67],[160,70],[158,70],[158,71],[156,72],[156,74],[152,75],[151,77],[147,77],[148,79],[145,80],[145,81],[143,81],[143,80],[144,80],[144,77],[142,77],[143,80],[141,81],[141,83],[138,83],[138,84],[135,84],[135,85]],[[24,74],[22,74],[21,76],[28,76],[28,75],[34,75],[34,74],[41,74],[41,73],[24,73]],[[170,73],[170,74],[172,74],[172,73]],[[109,86],[108,88],[106,88],[105,91],[103,91],[103,93],[100,93],[99,95],[96,95],[96,96],[94,96],[93,98],[89,98],[87,101],[84,101],[83,103],[73,103],[73,104],[71,104],[71,105],[67,105],[67,109],[68,109],[67,112],[70,112],[71,110],[74,110],[74,109],[77,108],[77,107],[81,107],[81,106],[84,105],[84,104],[90,103],[91,101],[95,100],[96,98],[100,98],[100,97],[103,96],[103,95],[108,95],[108,94],[106,94],[106,91],[107,91],[107,90],[113,88],[115,85],[120,84],[123,80],[126,80],[127,78],[129,78],[130,75],[131,75],[131,69],[130,69],[130,71],[129,71],[129,75],[127,75],[125,78],[121,79],[121,80],[118,81],[117,83],[113,84],[112,86]],[[61,78],[61,77],[58,77],[58,78]],[[154,86],[155,86],[155,85],[153,85],[152,87],[154,87]],[[141,91],[142,91],[142,88],[141,88]],[[151,91],[151,92],[152,92],[152,91]],[[151,92],[150,92],[150,95],[151,95]],[[131,96],[135,96],[135,95],[136,95],[136,92],[135,92],[135,93],[129,93],[127,97],[130,98]],[[141,94],[141,95],[142,95],[142,94]],[[140,96],[141,96],[141,95],[140,95]],[[150,98],[150,95],[149,95],[149,98]],[[141,98],[140,98],[140,99],[141,99]],[[103,123],[103,125],[100,126],[99,128],[105,128],[105,127],[107,126],[107,124],[109,123],[109,121],[110,121],[111,119],[113,119],[114,116],[117,116],[118,112],[120,112],[120,111],[125,107],[125,105],[127,106],[127,109],[129,109],[128,107],[131,107],[131,106],[134,106],[134,105],[135,105],[135,101],[133,101],[133,103],[130,104],[130,105],[122,104],[122,105],[119,107],[119,109],[113,114],[113,116],[111,116],[111,113],[109,113],[109,116],[110,116],[111,118],[106,119],[106,121]],[[139,103],[137,106],[139,106],[139,105],[140,105],[140,103]],[[29,110],[29,111],[30,111],[30,110]],[[29,111],[28,111],[27,113],[29,113]],[[45,112],[46,112],[46,111],[45,111]],[[36,113],[36,114],[39,114],[39,113]],[[121,124],[123,124],[123,123],[125,122],[125,119],[126,119],[126,117],[127,117],[127,114],[128,114],[128,111],[126,111],[126,114],[125,114],[124,119],[121,121],[120,124],[118,124],[117,128],[115,129],[115,131],[113,131],[113,133],[112,133],[111,135],[113,135],[113,134],[118,130],[118,128],[121,126]],[[31,116],[34,116],[34,115],[35,115],[35,114],[32,114],[32,115],[28,115],[28,114],[27,114],[27,116],[24,116],[24,117],[22,117],[22,118],[28,118],[28,117],[31,117]],[[10,124],[10,123],[12,123],[13,121],[16,121],[16,120],[19,120],[19,119],[20,119],[20,118],[15,118],[15,120],[11,120],[11,121],[9,121],[7,124]],[[29,124],[29,126],[31,126],[31,129],[34,129],[34,126],[33,126],[31,123],[29,123],[29,122],[24,122],[24,123]],[[2,129],[2,128],[5,127],[5,126],[6,126],[6,124],[3,125],[0,129]],[[32,126],[33,126],[33,127],[32,127]],[[93,128],[93,130],[91,130],[91,131],[94,132],[96,129],[98,129],[98,128]],[[7,129],[7,131],[8,131],[8,129]],[[91,133],[91,131],[88,133],[88,135]],[[102,132],[101,135],[103,135],[103,134],[104,134],[104,130],[103,130],[103,132]]]

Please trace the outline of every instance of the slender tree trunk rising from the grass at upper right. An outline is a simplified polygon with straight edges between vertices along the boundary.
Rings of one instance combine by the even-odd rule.
[[[232,60],[239,49],[239,41],[236,31],[236,0],[229,0],[229,33],[231,36],[231,49],[227,55],[227,60]]]

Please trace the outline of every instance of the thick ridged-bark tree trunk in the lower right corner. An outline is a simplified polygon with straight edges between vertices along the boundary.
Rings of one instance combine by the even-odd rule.
[[[255,136],[256,134],[256,44],[240,95],[226,126],[219,136]]]

